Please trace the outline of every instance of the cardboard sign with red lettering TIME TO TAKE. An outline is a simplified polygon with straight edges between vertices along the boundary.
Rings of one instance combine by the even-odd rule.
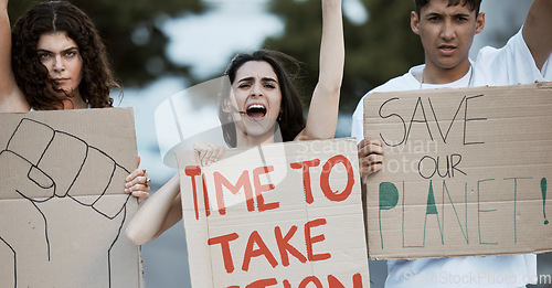
[[[353,139],[177,151],[193,287],[370,287]]]

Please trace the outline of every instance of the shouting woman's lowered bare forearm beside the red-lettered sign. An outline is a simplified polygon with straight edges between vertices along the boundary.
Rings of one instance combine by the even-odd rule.
[[[169,180],[138,209],[126,228],[130,242],[142,245],[159,237],[182,218],[179,175]]]

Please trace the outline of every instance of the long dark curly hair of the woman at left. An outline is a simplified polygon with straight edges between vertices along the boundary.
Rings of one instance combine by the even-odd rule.
[[[29,104],[41,110],[63,109],[63,100],[70,98],[49,92],[47,84],[53,82],[36,51],[42,34],[56,32],[66,32],[78,45],[83,58],[78,90],[83,100],[92,108],[113,107],[109,92],[120,89],[120,85],[115,81],[105,45],[88,15],[65,1],[38,3],[13,25],[12,70]]]

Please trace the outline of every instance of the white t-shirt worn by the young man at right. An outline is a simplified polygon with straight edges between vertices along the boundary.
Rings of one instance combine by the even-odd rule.
[[[502,49],[484,47],[479,51],[477,62],[471,63],[468,73],[460,79],[443,84],[422,84],[415,75],[420,75],[424,65],[412,67],[403,76],[390,79],[388,83],[372,89],[374,92],[399,92],[444,87],[467,86],[503,86],[530,84],[535,81],[552,79],[552,55],[544,64],[542,72],[521,35],[521,30],[512,36]],[[469,84],[469,85],[468,85]],[[351,136],[357,141],[363,139],[363,99],[359,102],[352,116]],[[524,287],[530,276],[537,274],[537,256],[505,255],[486,257],[452,257],[439,259],[388,260],[386,288],[394,287]],[[487,279],[495,277],[511,277],[518,282],[489,284]],[[466,279],[466,285],[456,284],[454,279]]]

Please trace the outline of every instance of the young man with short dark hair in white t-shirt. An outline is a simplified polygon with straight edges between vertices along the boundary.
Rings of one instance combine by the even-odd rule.
[[[534,0],[523,28],[499,50],[484,47],[477,62],[468,57],[474,36],[485,26],[481,0],[415,0],[411,13],[412,31],[424,46],[425,64],[412,67],[403,76],[372,89],[396,92],[442,87],[501,86],[552,81],[552,0]],[[353,114],[351,136],[359,142],[362,180],[384,164],[382,143],[363,139],[363,99]],[[508,275],[517,279],[537,274],[535,255],[453,257],[440,259],[389,260],[385,287],[417,287],[413,277],[452,275]],[[526,277],[523,277],[526,276]],[[407,278],[408,277],[408,278]],[[434,287],[444,284],[434,284]],[[458,285],[455,285],[457,287]],[[467,282],[463,287],[519,287]],[[432,287],[424,282],[420,287]]]

